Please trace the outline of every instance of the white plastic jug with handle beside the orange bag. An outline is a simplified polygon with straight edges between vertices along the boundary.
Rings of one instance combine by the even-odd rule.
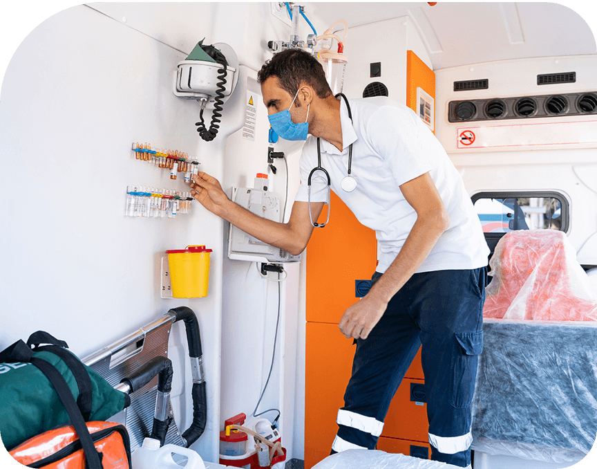
[[[187,457],[187,462],[181,466],[174,461],[172,454]],[[135,469],[205,469],[205,463],[193,450],[170,444],[160,448],[160,441],[152,438],[143,440],[141,448],[133,452],[131,462]]]

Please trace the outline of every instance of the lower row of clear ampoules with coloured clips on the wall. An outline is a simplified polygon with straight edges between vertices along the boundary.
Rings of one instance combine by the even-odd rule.
[[[176,218],[191,213],[191,192],[129,185],[126,194],[126,217]]]

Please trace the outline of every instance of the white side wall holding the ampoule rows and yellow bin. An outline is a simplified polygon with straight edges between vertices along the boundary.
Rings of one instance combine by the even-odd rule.
[[[0,178],[10,194],[2,216],[0,340],[6,347],[43,329],[84,357],[187,305],[200,321],[207,405],[217,412],[222,223],[197,205],[173,220],[124,217],[127,185],[184,190],[164,169],[131,158],[133,141],[184,149],[221,172],[220,161],[205,158],[197,144],[196,104],[171,92],[172,72],[184,57],[87,6],[48,18],[15,52],[0,104]],[[209,296],[162,300],[164,251],[198,243],[214,249]],[[173,329],[176,362],[186,356],[182,329]],[[191,423],[189,371],[183,386],[182,369],[175,369],[182,430]],[[207,459],[217,454],[219,425],[211,415],[195,445]]]

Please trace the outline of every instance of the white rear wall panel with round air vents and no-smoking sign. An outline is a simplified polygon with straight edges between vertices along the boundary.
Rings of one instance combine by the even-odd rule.
[[[500,122],[448,122],[448,103],[452,100],[510,98],[528,95],[553,95],[597,91],[597,56],[544,57],[471,64],[444,68],[436,74],[436,136],[448,151],[464,178],[469,194],[485,191],[557,190],[569,199],[569,239],[577,250],[580,264],[597,264],[597,115],[558,118],[500,120]],[[537,85],[536,76],[544,73],[576,71],[576,83]],[[489,89],[453,91],[453,82],[489,79]],[[570,143],[570,127],[553,126],[549,137],[568,142],[563,145],[524,145],[504,138],[503,147],[459,149],[459,129],[501,126],[520,134],[522,125],[574,122],[574,131],[585,143]],[[540,126],[537,126],[540,127]],[[531,129],[533,126],[524,127]],[[479,132],[482,134],[482,131]],[[521,134],[522,135],[522,134]],[[558,140],[558,138],[562,140]],[[528,134],[529,141],[534,137]],[[497,140],[496,140],[497,142]],[[490,142],[495,145],[496,142]],[[475,145],[483,142],[475,141]],[[515,145],[516,144],[516,145]]]

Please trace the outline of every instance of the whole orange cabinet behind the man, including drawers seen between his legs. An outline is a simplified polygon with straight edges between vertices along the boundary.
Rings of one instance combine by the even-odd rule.
[[[307,325],[305,352],[305,468],[328,457],[352,373],[355,346],[338,329],[344,311],[355,302],[354,281],[375,271],[375,232],[362,226],[332,192],[332,214],[315,230],[307,251]],[[325,208],[322,217],[325,217]],[[325,219],[320,219],[323,223]],[[333,223],[332,223],[333,222]],[[423,385],[421,356],[410,365],[386,416],[377,448],[415,454],[428,447],[426,405],[411,401],[411,387]],[[415,393],[416,394],[416,393]],[[385,449],[384,449],[385,448]],[[399,448],[399,449],[397,449]]]

